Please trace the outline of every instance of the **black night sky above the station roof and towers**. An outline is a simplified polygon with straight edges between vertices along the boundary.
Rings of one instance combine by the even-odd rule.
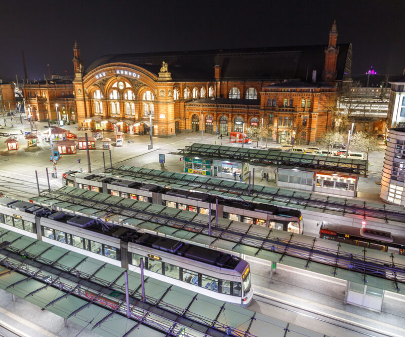
[[[104,54],[328,43],[353,44],[352,73],[405,68],[405,1],[374,0],[30,0],[0,5],[0,78],[72,74],[77,40],[85,68]]]

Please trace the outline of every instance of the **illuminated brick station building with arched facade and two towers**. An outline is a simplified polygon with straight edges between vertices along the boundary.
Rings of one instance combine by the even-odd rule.
[[[328,45],[105,55],[87,69],[75,43],[75,117],[85,129],[134,134],[152,122],[158,137],[263,126],[272,141],[312,144],[350,79],[351,44],[337,36],[334,22]]]

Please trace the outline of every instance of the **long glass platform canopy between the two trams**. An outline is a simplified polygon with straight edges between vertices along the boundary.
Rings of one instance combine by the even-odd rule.
[[[225,218],[218,218],[218,227],[214,227],[209,236],[208,215],[70,186],[45,192],[32,201],[103,218],[141,232],[162,233],[182,241],[277,261],[356,283],[367,282],[369,286],[405,294],[405,287],[399,286],[405,284],[405,256],[401,255],[254,224],[247,226]]]

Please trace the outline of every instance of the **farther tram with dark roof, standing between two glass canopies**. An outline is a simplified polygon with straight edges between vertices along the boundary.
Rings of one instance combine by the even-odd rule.
[[[62,176],[63,185],[95,192],[102,192],[123,198],[160,204],[195,213],[208,214],[211,204],[215,214],[218,200],[218,216],[248,224],[258,224],[276,230],[302,234],[304,222],[301,212],[268,203],[247,202],[212,196],[207,193],[166,188],[151,182],[141,183],[110,175],[98,175],[68,171]]]

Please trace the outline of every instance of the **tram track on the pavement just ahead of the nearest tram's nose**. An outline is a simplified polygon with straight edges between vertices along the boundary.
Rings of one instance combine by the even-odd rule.
[[[288,303],[286,301],[282,301],[281,299],[277,299],[274,297],[266,296],[263,294],[255,293],[253,295],[253,299],[256,302],[266,304],[268,306],[281,309],[282,311],[288,311],[294,313],[299,316],[303,316],[305,318],[313,319],[319,322],[323,322],[329,325],[334,326],[336,329],[341,328],[346,331],[350,331],[355,334],[351,334],[351,336],[367,336],[367,337],[402,337],[403,334],[395,334],[389,333],[385,331],[381,331],[381,329],[373,328],[370,325],[365,325],[362,323],[357,323],[354,320],[347,320],[344,318],[339,318],[333,316],[332,314],[327,313],[320,313],[315,310],[311,310],[308,308],[301,307],[299,305],[294,305],[292,303]],[[322,332],[323,333],[323,332]],[[325,334],[327,335],[327,334]],[[334,334],[334,336],[339,336],[338,332]]]

